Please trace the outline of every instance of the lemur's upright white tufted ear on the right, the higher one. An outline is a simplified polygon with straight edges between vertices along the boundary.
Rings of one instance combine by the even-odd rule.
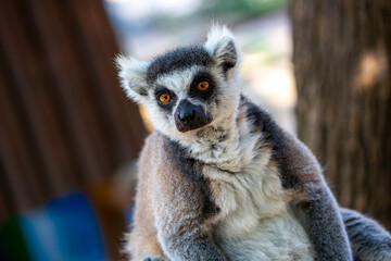
[[[204,44],[205,50],[220,66],[223,73],[230,77],[231,69],[238,64],[239,51],[232,33],[226,26],[212,26]]]

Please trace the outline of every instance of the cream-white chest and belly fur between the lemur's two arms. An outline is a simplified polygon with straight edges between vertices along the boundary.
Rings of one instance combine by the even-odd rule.
[[[220,208],[213,221],[215,241],[229,260],[313,260],[308,237],[289,207],[289,191],[270,162],[269,147],[249,146],[255,141],[248,139],[232,158],[231,171],[227,161],[203,166]]]

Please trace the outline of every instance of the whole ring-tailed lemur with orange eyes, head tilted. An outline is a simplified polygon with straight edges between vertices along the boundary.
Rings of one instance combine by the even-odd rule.
[[[155,127],[138,167],[131,260],[391,260],[391,236],[338,206],[319,163],[241,95],[226,27],[151,62],[118,57]]]

